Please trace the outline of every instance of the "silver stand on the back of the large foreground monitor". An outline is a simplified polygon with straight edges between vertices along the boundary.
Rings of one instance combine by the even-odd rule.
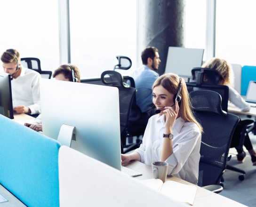
[[[74,128],[73,126],[63,124],[60,128],[57,141],[60,142],[61,145],[70,147]]]

